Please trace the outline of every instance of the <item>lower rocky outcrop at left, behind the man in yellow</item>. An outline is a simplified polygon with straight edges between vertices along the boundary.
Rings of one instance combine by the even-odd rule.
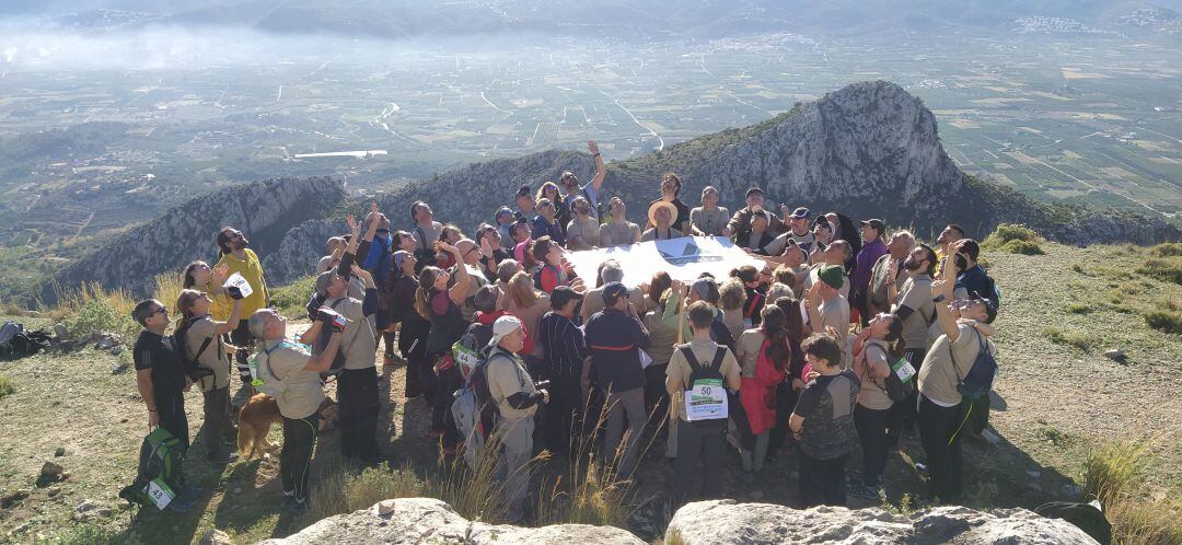
[[[329,177],[268,180],[221,189],[131,229],[65,267],[56,280],[66,290],[97,283],[145,296],[155,274],[177,271],[194,259],[216,261],[214,236],[222,227],[245,232],[261,258],[280,246],[288,229],[327,215],[344,196],[342,183]],[[320,247],[323,244],[322,239]],[[52,287],[41,296],[47,301],[56,299]]]

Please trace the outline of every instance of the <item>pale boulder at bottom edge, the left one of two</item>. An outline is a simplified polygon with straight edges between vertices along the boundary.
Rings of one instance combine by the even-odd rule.
[[[463,543],[470,545],[528,543],[532,545],[642,545],[631,533],[585,524],[524,528],[469,521],[452,506],[430,498],[381,501],[372,507],[320,520],[293,536],[260,541],[266,545],[322,543]]]

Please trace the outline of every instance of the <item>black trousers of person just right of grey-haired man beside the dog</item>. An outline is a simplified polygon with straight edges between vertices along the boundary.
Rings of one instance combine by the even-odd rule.
[[[362,463],[377,462],[377,374],[374,368],[344,369],[337,375],[340,454]]]

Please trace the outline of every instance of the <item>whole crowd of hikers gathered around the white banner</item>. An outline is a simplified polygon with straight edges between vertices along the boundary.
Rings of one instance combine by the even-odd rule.
[[[665,435],[673,506],[699,486],[703,497],[727,494],[728,443],[751,474],[794,453],[801,507],[877,499],[891,452],[916,430],[923,453],[911,458],[926,461],[930,499],[961,497],[961,440],[988,415],[988,396],[963,395],[963,383],[982,353],[995,353],[999,304],[965,229],[949,225],[929,246],[878,219],[777,213],[758,187],[734,213],[714,187],[691,208],[673,173],[642,226],[605,195],[606,166],[596,143],[589,148],[592,180],[566,171],[535,192],[521,187],[470,233],[437,221],[423,201],[409,205],[407,231],[376,203],[361,221],[349,216],[350,232],[329,239],[316,266],[312,326],[298,337],[268,307],[247,238],[222,229],[220,260],[183,273],[174,335],[164,303],[134,311],[144,327],[135,364],[150,426],[187,446],[183,391],[197,384],[209,459],[233,462],[223,440],[234,436],[236,369],[243,385],[278,402],[282,505],[304,511],[325,381],[337,382],[344,459],[375,465],[390,455],[377,441],[378,383],[389,374],[376,368],[404,364],[407,403],[429,409],[441,455],[496,450],[511,520],[524,515],[535,452],[574,456],[595,446],[628,480],[652,434]],[[565,258],[681,236],[727,238],[764,266],[693,281],[658,272],[625,286],[626,264],[608,260],[595,278],[579,278]],[[235,273],[249,284],[245,297],[226,287]],[[466,390],[479,404],[474,426],[453,410]],[[847,479],[851,455],[862,471]],[[180,492],[169,508],[184,511],[200,493]]]

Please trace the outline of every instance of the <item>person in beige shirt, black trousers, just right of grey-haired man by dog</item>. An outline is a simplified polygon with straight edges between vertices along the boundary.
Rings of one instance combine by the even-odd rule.
[[[349,322],[342,333],[342,368],[337,375],[337,403],[340,410],[340,454],[345,461],[356,465],[376,465],[377,413],[381,408],[377,395],[377,372],[374,369],[377,352],[377,335],[374,314],[377,312],[377,287],[374,277],[362,267],[352,267],[352,273],[365,286],[365,299],[349,297],[346,271],[330,270],[316,279],[316,291],[325,296],[325,306],[339,312]],[[314,342],[314,339],[309,339]]]

